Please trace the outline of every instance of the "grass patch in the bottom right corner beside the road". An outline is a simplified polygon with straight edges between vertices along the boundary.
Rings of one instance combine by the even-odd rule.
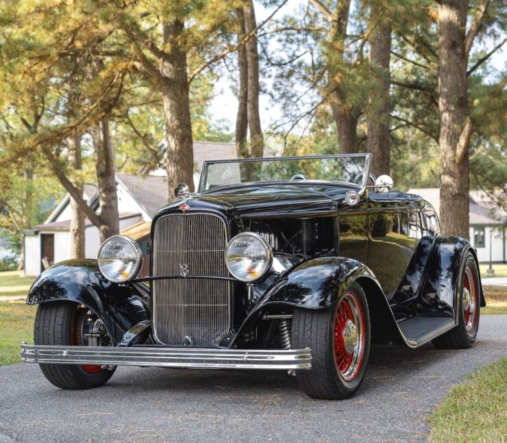
[[[507,440],[507,359],[490,364],[451,393],[429,418],[430,442]]]

